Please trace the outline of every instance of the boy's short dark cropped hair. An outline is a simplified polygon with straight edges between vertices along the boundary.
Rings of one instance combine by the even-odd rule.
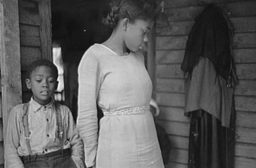
[[[47,59],[38,59],[38,60],[32,62],[32,64],[27,69],[26,79],[30,79],[31,73],[33,72],[33,70],[39,66],[50,67],[53,70],[54,76],[56,77],[56,80],[57,80],[58,75],[59,75],[57,66],[54,65],[53,62],[51,62]]]

